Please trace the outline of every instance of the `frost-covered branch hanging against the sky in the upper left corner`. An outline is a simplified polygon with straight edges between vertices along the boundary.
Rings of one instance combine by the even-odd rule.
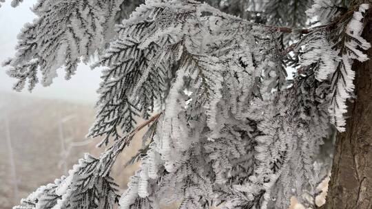
[[[18,1],[13,1],[18,2]],[[69,79],[77,65],[101,50],[112,38],[114,14],[120,1],[50,1],[40,0],[32,8],[37,19],[26,23],[18,36],[17,53],[3,65],[17,78],[14,89],[21,91],[28,82],[31,91],[39,83],[48,86],[65,69]]]

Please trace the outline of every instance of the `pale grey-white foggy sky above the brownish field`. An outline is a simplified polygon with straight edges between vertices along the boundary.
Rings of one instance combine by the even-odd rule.
[[[0,8],[0,63],[14,55],[17,34],[24,23],[31,22],[35,17],[30,11],[34,2],[36,0],[24,1],[17,8],[10,6],[10,0],[2,3]],[[94,104],[97,98],[96,89],[99,87],[100,76],[99,69],[91,70],[90,67],[80,65],[76,74],[70,80],[65,80],[63,69],[60,69],[59,77],[54,78],[50,87],[43,87],[39,84],[32,93],[27,89],[18,93],[12,90],[14,79],[8,77],[6,67],[0,67],[0,91]]]

